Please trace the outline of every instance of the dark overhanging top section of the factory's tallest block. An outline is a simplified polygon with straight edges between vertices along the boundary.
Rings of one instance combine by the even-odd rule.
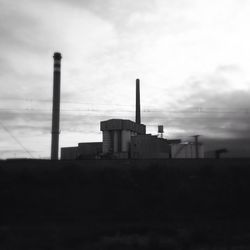
[[[107,121],[102,121],[101,131],[106,130],[130,130],[138,134],[146,133],[146,126],[144,124],[138,124],[130,120],[124,119],[111,119]]]

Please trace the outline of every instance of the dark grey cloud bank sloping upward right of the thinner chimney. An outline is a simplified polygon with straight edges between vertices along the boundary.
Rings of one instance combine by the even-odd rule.
[[[179,89],[182,95],[175,103],[165,106],[165,111],[145,115],[144,120],[160,121],[170,136],[201,134],[214,139],[250,140],[250,91],[233,87],[227,77],[232,73],[229,68],[232,66],[220,66],[211,74],[191,77]]]

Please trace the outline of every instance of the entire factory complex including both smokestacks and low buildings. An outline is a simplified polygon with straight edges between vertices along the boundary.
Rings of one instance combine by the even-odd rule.
[[[58,160],[62,56],[59,52],[55,52],[53,58],[51,159]],[[198,136],[194,136],[194,142],[182,142],[180,139],[168,140],[162,136],[162,125],[158,126],[160,136],[146,133],[146,126],[141,123],[139,79],[136,79],[135,100],[135,122],[124,119],[101,121],[102,142],[79,143],[76,147],[63,147],[61,159],[204,158],[203,145],[198,143]]]

